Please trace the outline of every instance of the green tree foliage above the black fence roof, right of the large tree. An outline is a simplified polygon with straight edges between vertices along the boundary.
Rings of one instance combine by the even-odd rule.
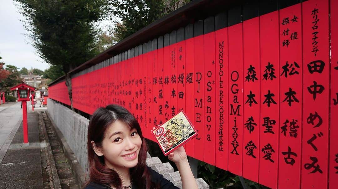
[[[110,0],[112,14],[107,18],[112,20],[114,27],[110,27],[109,30],[120,41],[190,1]]]

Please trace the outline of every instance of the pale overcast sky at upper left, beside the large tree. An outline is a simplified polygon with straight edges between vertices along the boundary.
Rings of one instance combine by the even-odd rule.
[[[0,0],[0,56],[5,65],[14,65],[18,68],[38,68],[45,70],[49,64],[45,63],[35,49],[28,44],[29,39],[23,33],[27,31],[19,19],[22,16],[14,6],[12,0]]]

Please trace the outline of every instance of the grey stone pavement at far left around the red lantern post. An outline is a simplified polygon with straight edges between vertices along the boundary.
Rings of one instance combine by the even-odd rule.
[[[0,111],[0,188],[43,188],[39,114],[27,111],[29,144],[23,144],[20,106],[16,102]]]

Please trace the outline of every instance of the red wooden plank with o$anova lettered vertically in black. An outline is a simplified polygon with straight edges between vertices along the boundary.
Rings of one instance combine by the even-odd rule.
[[[204,162],[215,165],[215,32],[204,34]]]

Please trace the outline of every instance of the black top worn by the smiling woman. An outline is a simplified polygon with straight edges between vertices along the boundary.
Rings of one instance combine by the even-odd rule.
[[[148,167],[148,171],[150,173],[151,181],[154,183],[160,183],[161,189],[179,189],[178,187],[174,186],[174,184],[167,179],[163,178],[163,175],[152,170],[150,167]],[[111,189],[111,187],[106,185],[101,185],[97,183],[90,183],[86,188],[84,189]],[[132,186],[132,189],[138,189],[136,186]]]

